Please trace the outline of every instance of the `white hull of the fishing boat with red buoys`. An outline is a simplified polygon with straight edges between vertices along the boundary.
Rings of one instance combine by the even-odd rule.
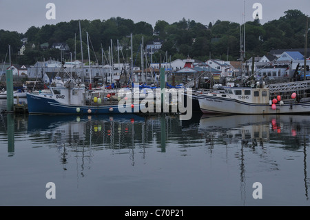
[[[200,110],[205,114],[299,114],[310,112],[310,101],[285,102],[273,110],[269,103],[247,103],[222,97],[198,96]]]

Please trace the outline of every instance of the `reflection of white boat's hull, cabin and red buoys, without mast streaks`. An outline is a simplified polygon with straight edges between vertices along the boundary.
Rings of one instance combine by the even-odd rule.
[[[209,139],[224,139],[226,144],[242,143],[254,146],[268,141],[280,141],[283,148],[301,148],[300,141],[309,139],[310,118],[305,115],[203,115],[198,132]]]

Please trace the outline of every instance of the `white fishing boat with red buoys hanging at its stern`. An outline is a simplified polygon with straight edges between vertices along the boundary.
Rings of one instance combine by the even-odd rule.
[[[310,81],[223,87],[197,94],[205,114],[298,114],[310,112]]]

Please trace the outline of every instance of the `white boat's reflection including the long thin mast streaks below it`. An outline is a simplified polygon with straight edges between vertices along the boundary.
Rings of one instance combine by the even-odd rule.
[[[307,146],[309,144],[310,118],[307,115],[203,115],[198,125],[209,146],[210,154],[216,145],[236,148],[235,157],[240,166],[240,191],[245,203],[245,171],[249,152],[257,155],[268,169],[278,170],[281,161],[270,159],[270,148],[302,152],[304,194],[307,199],[310,179],[307,177]],[[291,157],[291,156],[289,156]],[[254,159],[255,157],[251,157]]]

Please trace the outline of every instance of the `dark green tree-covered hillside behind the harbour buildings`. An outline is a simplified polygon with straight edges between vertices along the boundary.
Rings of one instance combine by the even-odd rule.
[[[259,20],[245,23],[245,56],[248,59],[253,54],[262,56],[272,49],[304,48],[306,19],[308,17],[300,10],[287,10],[279,19],[261,24]],[[81,20],[81,38],[83,44],[83,57],[87,60],[87,39],[90,40],[90,59],[96,63],[106,64],[109,61],[109,47],[114,49],[114,63],[117,60],[116,42],[121,50],[121,62],[130,63],[131,38],[133,61],[136,66],[141,64],[141,43],[144,46],[156,39],[163,40],[161,50],[156,52],[153,62],[161,62],[167,52],[169,60],[198,59],[206,61],[223,59],[236,61],[240,58],[240,27],[239,23],[231,21],[216,21],[205,25],[193,20],[183,18],[181,21],[167,23],[158,20],[154,26],[141,21],[134,23],[131,19],[112,17],[107,20]],[[22,46],[21,39],[27,37],[28,43],[23,55],[19,55]],[[0,30],[0,61],[6,59],[8,63],[8,45],[11,47],[12,63],[33,65],[37,61],[55,59],[70,61],[81,59],[81,42],[79,34],[79,21],[60,22],[56,25],[45,25],[41,28],[31,26],[22,34]],[[48,43],[68,43],[70,52],[61,54],[59,49],[43,49],[40,45]],[[310,45],[308,39],[307,45]],[[104,54],[104,55],[103,55]],[[166,57],[167,58],[167,57]]]

